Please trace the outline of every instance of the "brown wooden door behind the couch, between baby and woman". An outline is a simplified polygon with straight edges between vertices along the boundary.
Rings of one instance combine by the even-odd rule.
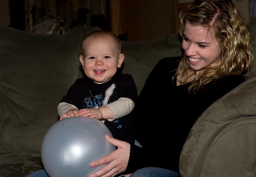
[[[176,33],[177,0],[111,0],[111,31],[127,41],[144,41]]]

